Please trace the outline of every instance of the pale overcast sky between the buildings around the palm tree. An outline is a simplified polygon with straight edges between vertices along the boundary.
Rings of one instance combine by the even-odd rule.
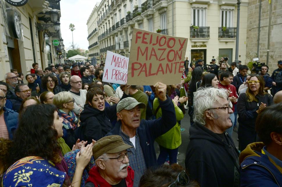
[[[64,45],[68,49],[72,45],[72,32],[69,24],[74,24],[74,44],[78,48],[88,50],[87,20],[96,5],[97,0],[61,0],[60,28]]]

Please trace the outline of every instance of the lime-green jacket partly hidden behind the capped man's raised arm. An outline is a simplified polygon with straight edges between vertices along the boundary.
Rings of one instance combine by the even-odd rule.
[[[154,113],[158,108],[158,106],[159,106],[158,98],[155,98],[153,103]],[[178,123],[178,121],[180,121],[184,117],[184,115],[183,112],[180,110],[180,108],[175,104],[174,104],[174,109],[176,114],[176,125],[172,127],[172,129],[170,129],[165,134],[156,138],[156,142],[160,146],[167,149],[176,149],[181,145],[180,124]],[[161,116],[162,116],[162,110],[159,109],[156,118],[159,118]]]

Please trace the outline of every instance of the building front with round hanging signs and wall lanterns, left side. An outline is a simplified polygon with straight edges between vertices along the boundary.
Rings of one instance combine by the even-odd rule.
[[[10,69],[26,75],[33,63],[44,69],[62,62],[60,0],[29,0],[23,6],[0,2],[0,80]]]

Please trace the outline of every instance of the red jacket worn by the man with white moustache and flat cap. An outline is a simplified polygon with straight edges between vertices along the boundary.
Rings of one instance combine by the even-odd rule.
[[[127,187],[133,187],[133,181],[134,181],[134,170],[128,166],[127,168],[127,177],[125,178],[125,182]],[[86,181],[92,182],[95,186],[103,186],[103,187],[112,187],[99,173],[98,167],[94,166],[91,168],[89,172],[89,177]]]

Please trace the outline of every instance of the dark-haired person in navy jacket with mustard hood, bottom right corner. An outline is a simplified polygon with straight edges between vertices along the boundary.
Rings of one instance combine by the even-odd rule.
[[[249,144],[240,154],[241,186],[281,186],[281,111],[279,103],[258,114],[256,132],[262,142]]]

